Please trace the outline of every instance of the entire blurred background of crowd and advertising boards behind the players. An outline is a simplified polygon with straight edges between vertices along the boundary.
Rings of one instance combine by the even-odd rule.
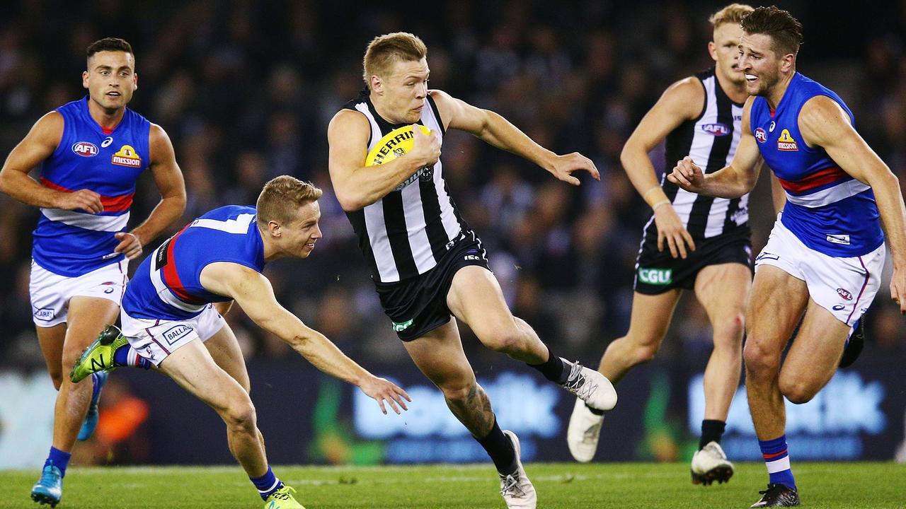
[[[798,70],[840,93],[863,137],[904,179],[906,2],[848,4],[843,11],[818,2],[779,4],[805,24]],[[556,351],[594,364],[626,330],[632,265],[650,215],[620,167],[622,144],[670,82],[709,65],[706,19],[722,5],[5,5],[0,152],[7,154],[44,112],[83,95],[88,43],[126,38],[140,76],[130,107],[168,131],[185,174],[188,208],[178,226],[216,206],[254,203],[276,175],[323,187],[324,238],[313,256],[269,264],[267,274],[284,305],[415,398],[408,415],[382,418],[357,391],[313,370],[235,309],[227,318],[246,353],[271,460],[484,461],[396,341],[331,193],[326,124],[361,89],[365,45],[391,31],[419,34],[429,46],[431,87],[496,110],[546,147],[578,150],[597,164],[601,183],[585,178],[572,188],[467,135],[450,134],[443,148],[452,195],[487,245],[516,314]],[[660,149],[652,157],[662,159]],[[762,180],[751,205],[756,248],[772,221]],[[146,176],[134,216],[146,216],[157,199]],[[33,207],[0,197],[0,468],[37,468],[50,445],[53,386],[27,292],[36,217]],[[796,459],[906,461],[906,338],[886,285],[885,277],[868,313],[869,344],[853,370],[839,373],[812,403],[790,408]],[[620,385],[621,404],[607,419],[599,460],[690,456],[709,334],[699,306],[684,299],[658,360]],[[524,437],[525,456],[566,459],[572,400],[468,333],[463,341],[501,424]],[[79,464],[232,464],[215,414],[158,375],[118,371],[101,412],[97,437],[76,448]],[[725,446],[733,458],[757,458],[744,392],[731,410]]]

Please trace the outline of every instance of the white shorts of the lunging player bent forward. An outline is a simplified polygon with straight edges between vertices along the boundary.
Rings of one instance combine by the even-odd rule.
[[[187,320],[145,320],[120,311],[120,322],[132,348],[155,366],[189,341],[207,341],[226,325],[213,304]]]

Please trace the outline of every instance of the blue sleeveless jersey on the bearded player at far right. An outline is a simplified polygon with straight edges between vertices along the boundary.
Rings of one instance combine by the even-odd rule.
[[[799,111],[818,95],[836,101],[854,125],[840,96],[796,72],[775,111],[764,97],[755,98],[752,134],[786,190],[784,226],[824,255],[865,255],[884,242],[872,188],[850,177],[821,147],[806,145],[799,132]]]

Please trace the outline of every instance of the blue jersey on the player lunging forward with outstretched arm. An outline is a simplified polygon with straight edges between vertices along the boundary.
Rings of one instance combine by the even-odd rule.
[[[164,241],[135,271],[122,297],[123,311],[132,318],[185,320],[208,303],[232,300],[201,286],[201,270],[215,262],[264,270],[254,206],[216,208]]]

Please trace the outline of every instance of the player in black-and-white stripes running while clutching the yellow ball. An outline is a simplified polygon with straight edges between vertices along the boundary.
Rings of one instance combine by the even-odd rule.
[[[493,111],[429,90],[427,53],[412,34],[371,41],[364,57],[366,89],[333,117],[327,131],[333,189],[406,351],[487,450],[507,506],[534,508],[537,497],[519,458],[519,440],[497,423],[463,352],[457,321],[467,323],[487,348],[534,367],[592,408],[613,408],[616,392],[602,374],[554,354],[509,311],[484,246],[447,194],[441,140],[448,129],[464,130],[574,186],[579,179],[573,172],[599,178],[598,170],[579,153],[559,156],[541,147]],[[386,135],[415,123],[430,134],[416,129],[408,153],[367,164],[366,154]]]

